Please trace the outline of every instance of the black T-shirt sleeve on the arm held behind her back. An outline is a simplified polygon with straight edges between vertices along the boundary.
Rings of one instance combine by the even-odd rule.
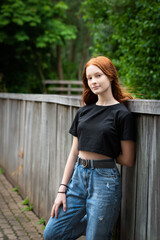
[[[120,140],[136,141],[136,118],[133,113],[128,112],[119,120],[119,137]]]

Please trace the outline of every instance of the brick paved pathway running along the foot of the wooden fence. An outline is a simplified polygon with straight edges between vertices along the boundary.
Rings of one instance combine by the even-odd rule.
[[[12,185],[0,174],[0,240],[43,239],[42,225],[32,212],[22,212],[22,198],[12,191]]]

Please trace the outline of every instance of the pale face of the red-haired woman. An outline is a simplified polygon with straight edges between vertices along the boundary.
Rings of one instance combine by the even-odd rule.
[[[111,90],[111,81],[97,66],[88,66],[86,68],[86,77],[88,86],[94,94],[99,95]]]

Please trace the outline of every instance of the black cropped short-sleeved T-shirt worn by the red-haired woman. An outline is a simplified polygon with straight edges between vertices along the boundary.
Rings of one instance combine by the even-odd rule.
[[[78,150],[116,158],[121,140],[135,141],[135,118],[124,104],[90,104],[78,109],[69,130],[78,137]]]

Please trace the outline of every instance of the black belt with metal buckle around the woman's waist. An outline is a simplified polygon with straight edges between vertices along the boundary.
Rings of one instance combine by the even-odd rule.
[[[114,168],[115,167],[115,159],[100,159],[100,160],[92,160],[92,159],[83,159],[78,156],[78,165],[82,165],[83,168]]]

